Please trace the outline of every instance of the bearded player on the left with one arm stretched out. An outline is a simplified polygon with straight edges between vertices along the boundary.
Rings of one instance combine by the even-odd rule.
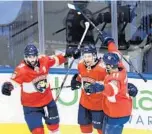
[[[16,67],[11,80],[3,84],[2,94],[8,96],[16,85],[21,87],[24,118],[32,134],[44,134],[42,118],[49,134],[59,134],[58,110],[47,76],[50,67],[64,63],[66,57],[78,58],[73,53],[69,49],[65,56],[38,56],[38,49],[29,44],[24,50],[24,60]]]

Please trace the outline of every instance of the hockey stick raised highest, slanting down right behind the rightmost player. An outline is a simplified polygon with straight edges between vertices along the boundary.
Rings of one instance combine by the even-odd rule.
[[[82,12],[81,9],[79,9],[78,7],[74,6],[73,4],[69,4],[69,3],[68,3],[68,7],[70,9],[76,10],[78,13],[81,13],[83,15],[83,17],[101,34],[101,36],[103,35],[103,32],[101,32],[101,30]],[[145,82],[147,82],[147,79],[144,78],[143,75],[136,70],[136,68],[133,66],[133,64],[131,62],[129,62],[121,53],[120,53],[120,55],[130,66],[133,67],[133,69],[140,76],[140,78],[143,79]]]

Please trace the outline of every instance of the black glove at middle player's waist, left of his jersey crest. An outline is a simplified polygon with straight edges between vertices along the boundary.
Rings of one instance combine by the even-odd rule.
[[[71,90],[77,90],[81,87],[81,82],[77,81],[78,74],[75,74],[71,80]]]

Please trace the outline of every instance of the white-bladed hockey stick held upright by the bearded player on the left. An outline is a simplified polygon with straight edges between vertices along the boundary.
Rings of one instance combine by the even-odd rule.
[[[82,35],[82,37],[81,37],[81,40],[80,40],[80,42],[79,42],[79,45],[78,45],[77,49],[80,49],[80,47],[81,47],[81,45],[82,45],[82,42],[83,42],[83,40],[84,40],[84,38],[85,38],[85,36],[86,36],[86,34],[87,34],[87,31],[88,31],[88,29],[89,29],[89,26],[90,26],[90,23],[89,23],[89,22],[85,22],[85,30],[84,30],[84,33],[83,33],[83,35]],[[59,95],[60,95],[60,93],[61,93],[61,91],[62,91],[62,88],[63,88],[64,83],[65,83],[65,81],[66,81],[66,79],[67,79],[67,77],[68,77],[68,73],[69,73],[69,71],[70,71],[73,63],[74,63],[74,59],[73,59],[72,62],[70,63],[70,66],[69,66],[69,68],[68,68],[68,71],[67,71],[64,79],[63,79],[63,82],[62,82],[62,84],[61,84],[60,90],[59,90],[59,92],[58,92],[58,95],[56,96],[55,101],[57,101],[58,98],[59,98]]]

